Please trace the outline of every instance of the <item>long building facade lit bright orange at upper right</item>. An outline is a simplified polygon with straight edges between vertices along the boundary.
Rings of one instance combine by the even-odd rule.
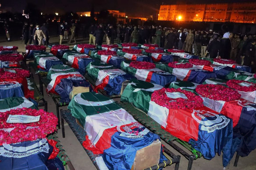
[[[256,3],[161,5],[158,20],[256,23]]]

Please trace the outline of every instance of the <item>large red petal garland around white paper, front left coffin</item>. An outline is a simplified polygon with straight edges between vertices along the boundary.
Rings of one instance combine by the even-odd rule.
[[[33,123],[7,123],[10,114],[40,116],[40,119]],[[53,113],[42,109],[19,108],[6,111],[0,114],[0,145],[45,138],[56,130],[57,123],[58,119]],[[6,128],[11,128],[11,132],[2,130]]]

